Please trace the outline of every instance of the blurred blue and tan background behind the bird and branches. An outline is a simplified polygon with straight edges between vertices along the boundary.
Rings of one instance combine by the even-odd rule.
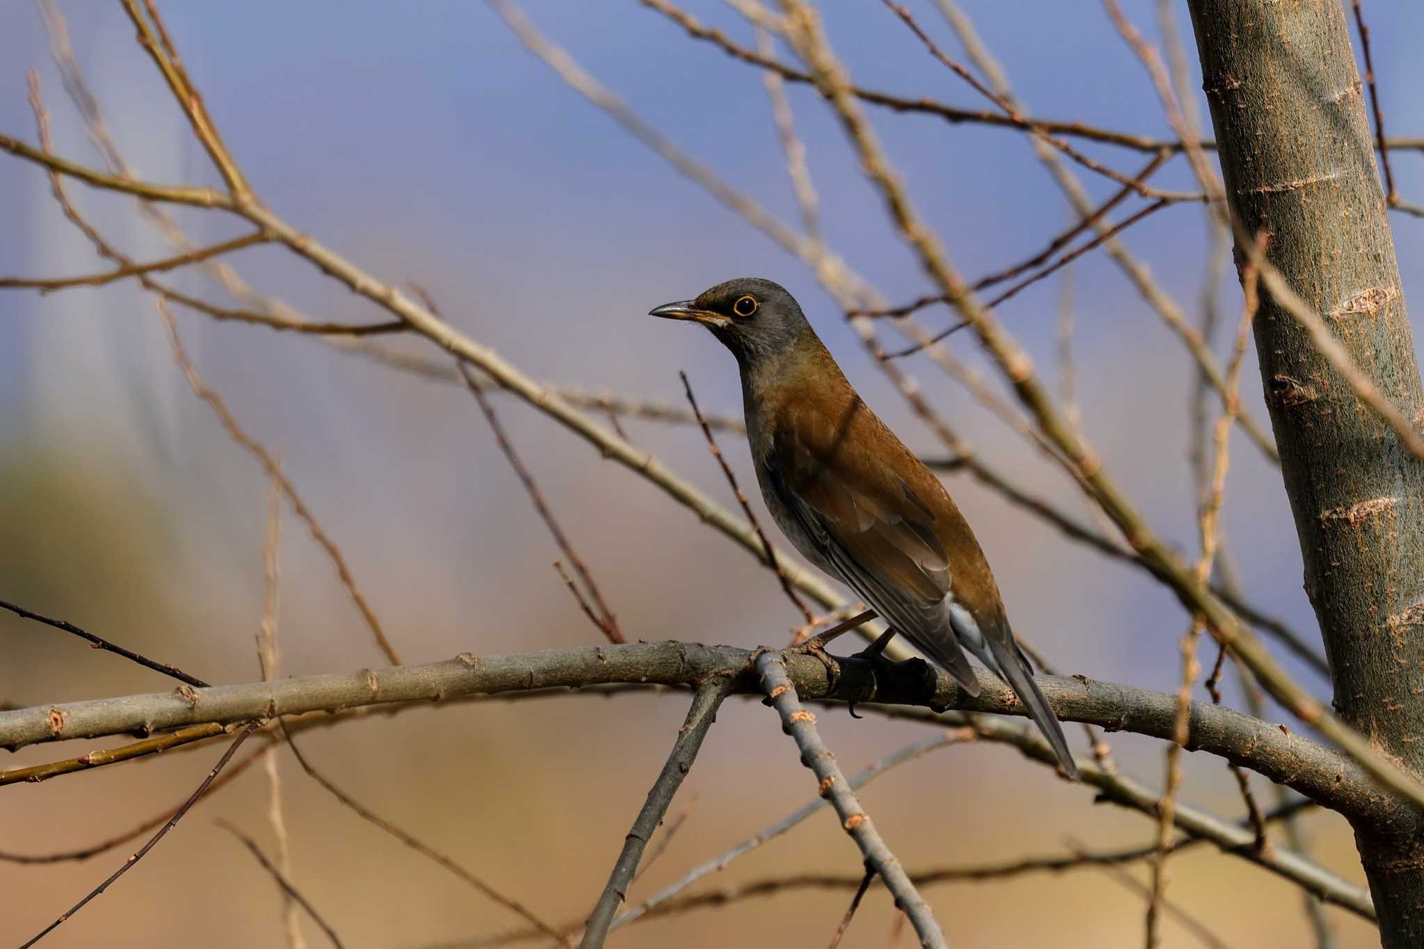
[[[634,3],[523,6],[648,122],[776,215],[797,221],[758,70],[689,40]],[[1156,38],[1155,4],[1125,6]],[[1185,4],[1173,7],[1180,7],[1179,28],[1195,70]],[[75,55],[127,158],[151,181],[219,184],[121,9],[63,9]],[[688,9],[738,41],[753,43],[733,10],[691,0]],[[958,55],[933,4],[913,9]],[[1096,4],[967,0],[965,9],[1031,114],[1171,137],[1145,71]],[[676,373],[684,369],[706,411],[738,414],[729,354],[701,330],[644,314],[732,276],[766,276],[797,296],[870,405],[911,447],[944,454],[876,371],[805,265],[624,134],[531,57],[484,4],[198,1],[169,3],[164,14],[224,138],[271,208],[375,275],[429,287],[450,322],[524,371],[678,404]],[[985,107],[880,4],[826,4],[824,16],[857,83]],[[1388,129],[1424,129],[1424,105],[1408,95],[1424,81],[1424,61],[1413,54],[1424,10],[1374,3],[1368,17]],[[26,73],[37,70],[58,151],[98,164],[64,95],[40,16],[10,0],[4,23],[0,129],[34,141]],[[827,243],[896,302],[927,292],[820,100],[796,85],[789,95],[822,198]],[[1202,110],[1205,115],[1205,104]],[[871,118],[920,209],[971,277],[1031,255],[1071,222],[1027,137],[883,110]],[[1132,152],[1082,148],[1125,171],[1145,162]],[[1403,195],[1418,199],[1418,155],[1396,155],[1394,168]],[[1096,201],[1116,188],[1081,176]],[[1153,184],[1193,186],[1182,159]],[[171,253],[131,201],[80,185],[71,185],[71,193],[128,255],[147,260]],[[236,233],[216,215],[184,209],[178,218],[199,243]],[[30,164],[0,162],[0,219],[7,222],[0,228],[0,272],[63,276],[107,269]],[[1404,289],[1413,295],[1413,260],[1424,230],[1407,216],[1391,215],[1391,223]],[[1168,208],[1125,236],[1193,320],[1208,236],[1199,205]],[[258,289],[318,319],[380,319],[281,249],[244,250],[232,262]],[[1071,273],[1085,428],[1153,526],[1193,552],[1196,502],[1186,462],[1192,366],[1101,252]],[[197,269],[169,283],[229,302]],[[1045,280],[1000,309],[1048,377],[1062,293],[1061,280]],[[1239,300],[1227,267],[1216,347],[1223,363]],[[0,598],[211,682],[259,679],[253,636],[262,612],[268,484],[192,396],[152,302],[135,285],[121,283],[50,296],[11,292],[0,296]],[[316,339],[218,324],[192,313],[178,319],[212,388],[253,435],[281,452],[406,662],[600,642],[553,571],[557,549],[467,393]],[[921,319],[934,329],[951,320],[943,309]],[[416,341],[403,346],[439,356]],[[951,337],[951,347],[981,363],[967,336]],[[1247,360],[1245,403],[1265,421],[1255,356]],[[1088,516],[1057,468],[923,356],[904,367],[995,465]],[[750,647],[779,645],[800,623],[775,579],[742,549],[534,410],[504,396],[494,400],[629,637]],[[696,430],[637,420],[624,425],[639,447],[733,504]],[[732,434],[721,441],[750,487],[745,442]],[[1064,541],[967,477],[947,478],[995,566],[1020,635],[1064,672],[1176,687],[1186,616],[1163,588]],[[1279,472],[1239,433],[1225,529],[1252,599],[1312,630],[1317,642]],[[384,664],[329,561],[290,516],[281,546],[278,637],[285,676]],[[9,615],[0,616],[0,647],[4,703],[169,686]],[[1203,645],[1203,656],[1215,659],[1215,647]],[[1329,694],[1329,683],[1284,660],[1319,694]],[[1227,701],[1239,706],[1235,687]],[[681,696],[575,696],[416,709],[313,731],[303,744],[373,810],[545,919],[562,922],[587,913],[602,888],[685,706]],[[924,730],[826,714],[822,733],[853,771]],[[1081,746],[1078,728],[1069,728],[1069,737]],[[1159,743],[1109,738],[1126,771],[1159,784]],[[28,748],[6,754],[4,767],[120,743]],[[7,787],[0,851],[67,849],[128,828],[181,801],[219,754],[219,746],[205,744]],[[414,949],[518,923],[339,807],[286,751],[281,768],[293,878],[346,945]],[[1186,768],[1185,801],[1242,814],[1219,760],[1186,756]],[[1257,792],[1266,791],[1260,783]],[[276,888],[214,825],[215,817],[225,817],[271,849],[266,794],[261,768],[253,768],[204,801],[142,866],[47,945],[283,943]],[[756,703],[729,703],[674,811],[693,797],[696,802],[632,898],[652,894],[813,794],[815,780],[772,713]],[[1141,814],[1094,805],[1091,788],[1065,785],[1012,750],[987,744],[904,765],[867,788],[863,801],[911,869],[1062,854],[1065,835],[1106,848],[1145,844],[1155,832]],[[1343,820],[1312,814],[1306,827],[1317,859],[1364,882]],[[128,852],[81,864],[0,862],[0,942],[37,932]],[[859,865],[852,844],[823,814],[708,882],[856,872]],[[1276,876],[1210,848],[1189,851],[1171,868],[1169,898],[1223,943],[1306,943],[1297,892]],[[1145,878],[1142,866],[1132,871]],[[927,898],[956,946],[1065,945],[1064,933],[1085,933],[1084,940],[1091,933],[1094,945],[1112,946],[1139,945],[1142,938],[1143,901],[1092,868],[937,885]],[[629,948],[824,945],[847,899],[843,891],[796,891],[639,923],[612,940]],[[1376,945],[1370,926],[1344,912],[1326,913],[1339,946]],[[871,889],[843,945],[886,945],[893,918],[884,891]],[[316,945],[320,933],[303,928]],[[1173,919],[1163,935],[1168,946],[1199,945]]]

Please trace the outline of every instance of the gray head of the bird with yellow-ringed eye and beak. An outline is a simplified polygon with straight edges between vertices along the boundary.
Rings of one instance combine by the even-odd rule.
[[[712,330],[743,367],[776,357],[815,333],[796,299],[780,285],[738,277],[703,290],[695,300],[665,303],[651,312],[671,320],[696,320]]]

